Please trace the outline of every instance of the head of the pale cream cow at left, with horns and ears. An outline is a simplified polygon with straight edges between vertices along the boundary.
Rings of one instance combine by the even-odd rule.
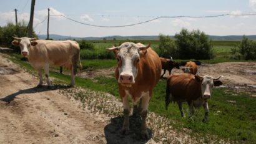
[[[36,46],[37,42],[35,41],[36,38],[29,38],[29,37],[13,37],[14,41],[12,41],[12,45],[19,46],[21,49],[21,54],[23,56],[29,55],[29,50],[31,46]]]

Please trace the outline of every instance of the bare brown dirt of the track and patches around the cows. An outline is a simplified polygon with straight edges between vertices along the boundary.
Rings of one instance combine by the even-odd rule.
[[[180,73],[181,70],[174,69],[173,72]],[[111,68],[81,72],[79,76],[111,77],[113,74],[114,68]],[[215,77],[224,75],[222,81],[226,87],[232,89],[243,87],[246,92],[255,95],[255,62],[201,65],[199,74]],[[163,118],[155,116],[154,113],[149,113],[150,118],[147,118],[147,122],[154,130],[152,133],[162,137],[155,136],[150,140],[139,140],[137,132],[130,133],[128,136],[121,135],[119,130],[122,117],[92,112],[91,108],[82,107],[79,100],[67,96],[69,94],[63,94],[63,91],[70,90],[65,85],[56,85],[54,89],[47,89],[46,86],[37,88],[38,82],[37,77],[22,70],[0,54],[0,143],[163,143],[168,142],[167,138],[173,138],[169,142],[174,143],[197,142],[183,132],[172,130],[171,127],[168,133],[153,128],[155,123],[159,123],[158,119],[160,122],[163,121]],[[76,94],[76,92],[70,94]],[[117,103],[114,108],[121,111],[120,100],[109,97],[111,100],[104,100],[104,102],[109,105]],[[99,98],[96,97],[96,101],[92,100],[92,102],[101,103],[97,102]],[[119,112],[118,115],[122,113]]]

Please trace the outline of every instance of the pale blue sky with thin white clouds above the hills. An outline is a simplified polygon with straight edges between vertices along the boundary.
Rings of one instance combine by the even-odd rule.
[[[49,34],[62,36],[174,36],[182,28],[199,29],[215,36],[256,34],[256,0],[36,0],[33,24],[36,34],[47,34],[48,8]],[[1,27],[15,23],[14,9],[18,10],[18,22],[29,22],[31,0],[8,0],[0,5]],[[195,18],[220,14],[231,16]],[[232,16],[237,14],[255,15]],[[155,20],[149,21],[152,19]],[[145,23],[137,24],[140,22]],[[137,25],[97,27],[130,24]]]

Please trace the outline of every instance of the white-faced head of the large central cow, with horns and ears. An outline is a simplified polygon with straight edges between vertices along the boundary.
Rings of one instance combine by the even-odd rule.
[[[119,47],[108,48],[108,50],[113,50],[116,55],[119,84],[130,87],[135,83],[140,55],[145,54],[149,47],[150,44],[144,46],[142,44],[134,44],[133,42],[124,42]]]

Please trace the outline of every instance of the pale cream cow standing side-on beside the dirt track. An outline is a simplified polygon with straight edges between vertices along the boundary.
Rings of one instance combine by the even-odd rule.
[[[21,48],[21,54],[27,57],[29,63],[34,67],[39,74],[40,81],[37,87],[42,86],[42,69],[44,69],[47,85],[51,87],[49,80],[49,66],[64,66],[71,70],[71,83],[73,87],[75,84],[76,67],[79,64],[82,69],[80,61],[80,47],[75,41],[50,41],[37,40],[29,37],[14,37],[12,41],[14,46]]]

